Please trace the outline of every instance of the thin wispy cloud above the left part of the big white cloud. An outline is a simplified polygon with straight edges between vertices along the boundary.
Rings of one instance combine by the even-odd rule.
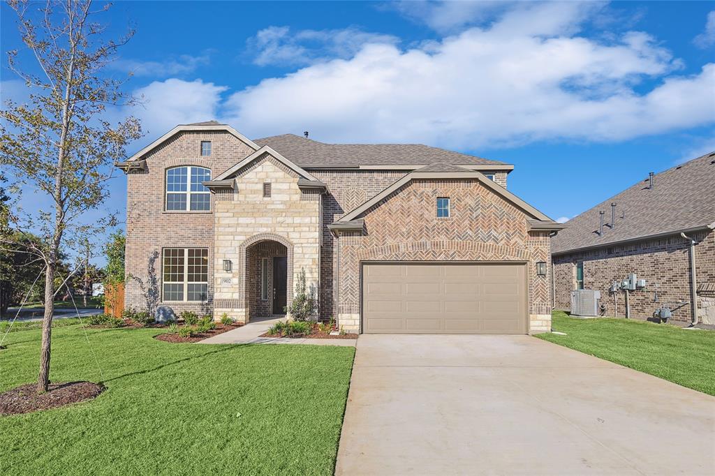
[[[292,33],[287,26],[269,26],[247,41],[259,66],[295,66],[327,59],[349,58],[365,44],[395,44],[395,36],[367,33],[355,28],[340,30],[300,30]]]

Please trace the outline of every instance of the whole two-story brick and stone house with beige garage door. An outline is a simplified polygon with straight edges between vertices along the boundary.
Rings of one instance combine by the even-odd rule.
[[[551,329],[551,235],[513,166],[418,144],[175,127],[126,162],[127,307],[284,314],[305,270],[358,332]]]

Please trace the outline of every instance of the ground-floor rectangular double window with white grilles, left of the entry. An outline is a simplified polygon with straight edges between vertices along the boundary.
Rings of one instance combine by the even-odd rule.
[[[163,301],[206,301],[209,291],[207,248],[164,248]]]

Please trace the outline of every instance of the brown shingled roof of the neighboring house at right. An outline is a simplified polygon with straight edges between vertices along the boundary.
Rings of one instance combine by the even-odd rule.
[[[616,227],[611,229],[611,203]],[[603,236],[598,212],[603,210]],[[625,218],[622,218],[625,210]],[[715,152],[641,180],[566,222],[551,242],[553,254],[590,249],[649,237],[715,228]]]

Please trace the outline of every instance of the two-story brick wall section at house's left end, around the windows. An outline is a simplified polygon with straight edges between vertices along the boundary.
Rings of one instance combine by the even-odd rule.
[[[211,141],[209,157],[201,156],[201,141]],[[152,311],[162,300],[162,249],[207,248],[213,262],[214,210],[211,197],[209,212],[166,212],[164,191],[166,170],[181,165],[211,169],[216,177],[237,158],[253,149],[226,132],[182,132],[147,154],[147,170],[127,174],[127,285],[126,307]],[[175,312],[212,309],[213,268],[209,266],[209,301],[172,302]]]

